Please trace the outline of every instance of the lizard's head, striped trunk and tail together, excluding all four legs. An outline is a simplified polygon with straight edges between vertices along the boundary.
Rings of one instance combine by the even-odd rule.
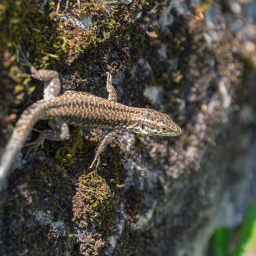
[[[68,124],[128,130],[143,135],[178,136],[181,129],[172,119],[152,109],[135,108],[87,92],[67,91],[28,107],[16,123],[0,160],[0,190],[35,123],[40,119],[63,119]]]

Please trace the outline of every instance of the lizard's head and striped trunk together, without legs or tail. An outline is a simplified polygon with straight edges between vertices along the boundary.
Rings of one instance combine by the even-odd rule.
[[[87,92],[66,91],[54,99],[41,119],[62,118],[79,127],[100,127],[128,130],[145,135],[170,136],[180,133],[180,128],[168,115],[152,109],[129,107]],[[161,126],[167,128],[161,129]]]

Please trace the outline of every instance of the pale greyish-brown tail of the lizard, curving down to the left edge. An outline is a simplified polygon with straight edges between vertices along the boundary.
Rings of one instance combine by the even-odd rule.
[[[6,188],[5,183],[7,182],[5,180],[7,175],[10,174],[10,169],[15,163],[17,154],[23,147],[35,123],[42,118],[42,113],[47,105],[44,100],[34,103],[22,113],[17,121],[0,159],[0,192]]]

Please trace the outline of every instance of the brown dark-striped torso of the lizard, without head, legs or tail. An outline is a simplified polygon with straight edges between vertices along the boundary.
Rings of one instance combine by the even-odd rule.
[[[141,122],[144,109],[97,97],[87,92],[66,91],[54,99],[42,119],[60,117],[70,125],[124,130]]]

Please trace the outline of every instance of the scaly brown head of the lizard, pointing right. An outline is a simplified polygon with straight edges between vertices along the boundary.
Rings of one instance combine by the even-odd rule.
[[[181,134],[181,128],[168,115],[153,109],[144,110],[143,121],[137,122],[137,125],[133,126],[131,131],[148,136],[178,136]]]

